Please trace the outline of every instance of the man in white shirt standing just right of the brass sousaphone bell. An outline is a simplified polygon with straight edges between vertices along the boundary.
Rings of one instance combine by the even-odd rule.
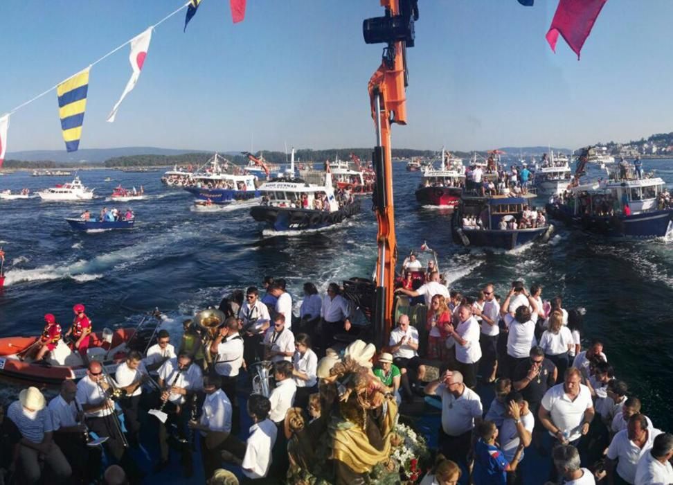
[[[236,381],[240,368],[243,365],[243,339],[238,333],[238,321],[235,317],[228,317],[213,343],[210,344],[210,353],[217,353],[215,372],[220,376],[222,391],[233,405],[233,433],[240,431],[240,409],[237,398]]]

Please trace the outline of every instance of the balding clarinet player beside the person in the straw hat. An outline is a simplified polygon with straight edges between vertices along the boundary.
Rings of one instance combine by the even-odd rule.
[[[77,386],[64,380],[58,396],[49,405],[54,441],[73,468],[73,483],[89,483],[100,473],[100,448],[87,446],[87,426],[75,403]]]

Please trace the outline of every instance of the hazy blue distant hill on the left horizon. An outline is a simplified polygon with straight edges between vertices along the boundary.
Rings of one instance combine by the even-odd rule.
[[[120,148],[84,148],[76,152],[65,150],[26,150],[23,152],[7,152],[6,159],[23,161],[51,160],[58,163],[102,164],[115,157],[132,157],[134,155],[180,155],[182,153],[202,153],[206,150],[174,150],[172,148],[156,148],[151,146],[129,146]]]

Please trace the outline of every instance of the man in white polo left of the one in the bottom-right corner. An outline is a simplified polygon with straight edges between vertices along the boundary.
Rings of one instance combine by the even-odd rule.
[[[652,449],[659,434],[660,430],[648,427],[643,414],[631,416],[627,429],[615,434],[608,448],[605,461],[608,482],[633,485],[640,457]]]

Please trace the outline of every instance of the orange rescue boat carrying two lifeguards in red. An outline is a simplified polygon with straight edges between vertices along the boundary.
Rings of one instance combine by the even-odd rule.
[[[92,343],[87,350],[87,358],[99,360],[109,373],[124,362],[129,351],[127,342],[135,333],[134,328],[118,328],[117,330],[94,333]],[[78,352],[70,350],[60,341],[50,353],[46,362],[39,364],[28,359],[21,360],[22,351],[35,344],[39,337],[4,337],[0,338],[0,376],[11,377],[45,384],[60,384],[66,379],[81,379],[87,374],[87,366],[82,362]]]

